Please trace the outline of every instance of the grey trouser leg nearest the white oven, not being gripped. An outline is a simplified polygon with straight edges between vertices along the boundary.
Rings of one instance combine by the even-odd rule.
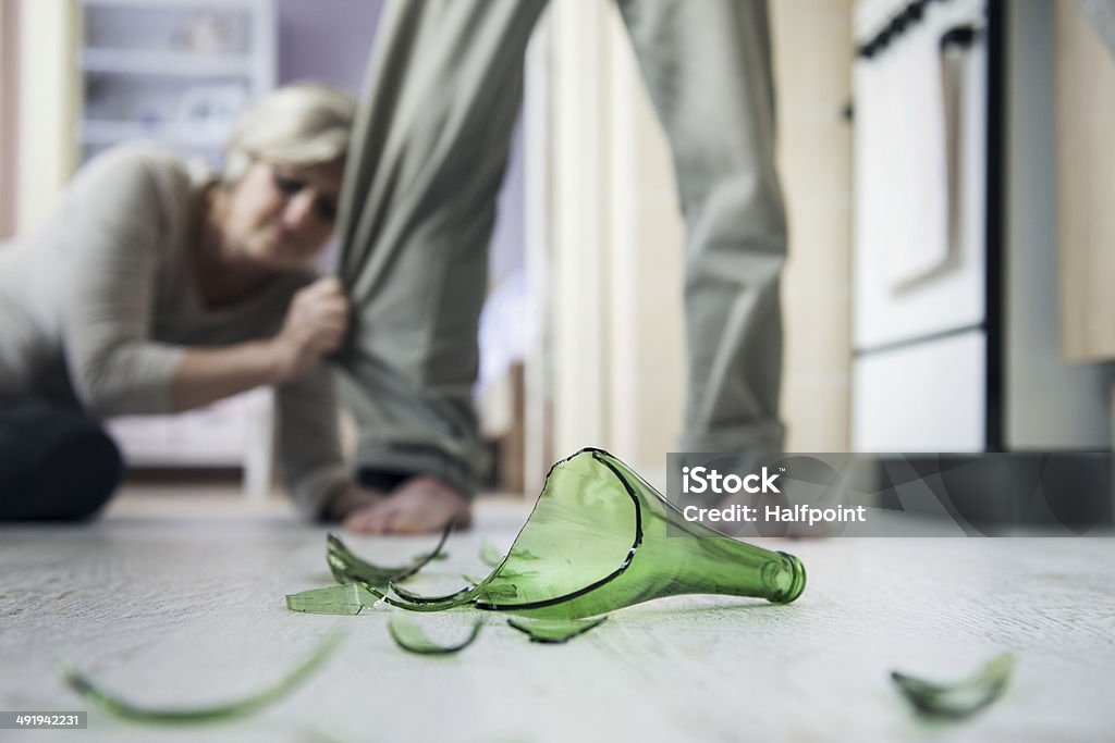
[[[766,3],[618,1],[670,140],[687,227],[680,447],[777,451],[786,224]]]

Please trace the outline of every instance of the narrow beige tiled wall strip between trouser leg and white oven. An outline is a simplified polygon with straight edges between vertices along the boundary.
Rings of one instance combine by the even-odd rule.
[[[772,2],[778,170],[789,258],[782,283],[787,451],[847,451],[851,394],[852,1]]]

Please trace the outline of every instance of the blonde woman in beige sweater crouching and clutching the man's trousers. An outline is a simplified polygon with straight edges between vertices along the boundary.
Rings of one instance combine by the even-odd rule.
[[[115,148],[0,247],[0,520],[100,509],[124,467],[99,419],[272,384],[287,487],[307,516],[362,531],[467,521],[467,500],[432,478],[387,497],[341,456],[323,358],[348,300],[313,261],[355,110],[327,86],[277,90],[237,123],[220,175],[151,145]]]

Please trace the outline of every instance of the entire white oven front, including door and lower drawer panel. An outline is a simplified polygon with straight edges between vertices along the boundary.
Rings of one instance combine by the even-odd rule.
[[[985,8],[985,0],[857,6],[856,451],[981,451],[995,433]],[[981,30],[964,47],[946,46],[958,29]]]

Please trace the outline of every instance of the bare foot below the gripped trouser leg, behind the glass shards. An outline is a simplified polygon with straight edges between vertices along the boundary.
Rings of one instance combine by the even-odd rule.
[[[386,498],[348,515],[343,527],[357,534],[428,534],[456,518],[458,529],[472,522],[468,499],[432,477],[410,478]]]

